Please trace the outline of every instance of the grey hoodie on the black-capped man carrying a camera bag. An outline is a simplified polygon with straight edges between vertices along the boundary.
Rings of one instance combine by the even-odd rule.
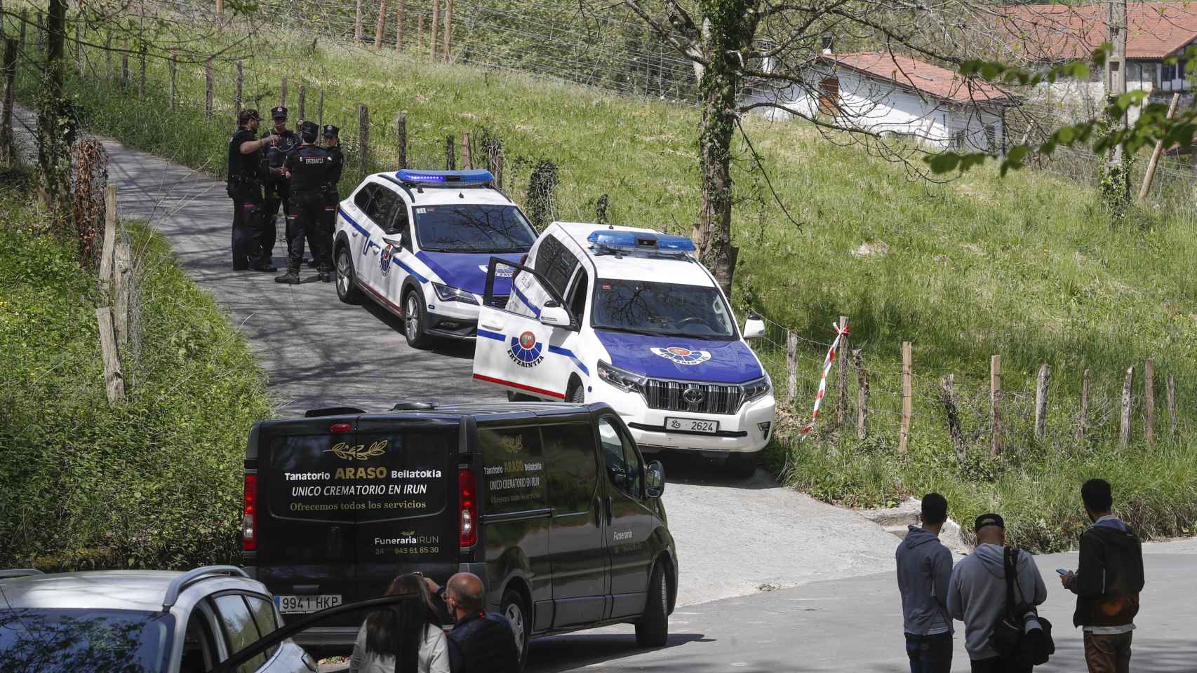
[[[973,661],[997,656],[989,647],[989,636],[1005,614],[1003,549],[996,544],[983,544],[956,563],[952,571],[948,612],[965,623],[965,649]],[[1040,605],[1047,600],[1047,587],[1029,553],[1019,551],[1015,569],[1015,604]]]

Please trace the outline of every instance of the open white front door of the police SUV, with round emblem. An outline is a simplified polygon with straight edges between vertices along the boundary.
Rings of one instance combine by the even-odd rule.
[[[514,269],[511,295],[493,306],[496,269]],[[474,378],[508,391],[564,400],[572,360],[563,343],[578,326],[560,294],[535,270],[491,257],[478,312]]]

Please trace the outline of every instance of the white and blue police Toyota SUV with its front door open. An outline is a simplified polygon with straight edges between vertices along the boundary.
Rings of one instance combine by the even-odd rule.
[[[698,451],[752,475],[774,414],[745,338],[765,325],[749,316],[737,330],[693,251],[650,230],[553,222],[524,263],[491,259],[474,378],[511,398],[604,402],[648,453]]]

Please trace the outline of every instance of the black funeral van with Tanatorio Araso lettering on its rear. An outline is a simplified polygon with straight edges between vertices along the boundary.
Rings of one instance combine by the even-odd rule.
[[[383,595],[399,574],[486,586],[530,637],[633,623],[662,646],[678,595],[660,463],[606,404],[400,404],[265,421],[245,451],[245,569],[284,614]],[[361,616],[296,640],[352,649]]]

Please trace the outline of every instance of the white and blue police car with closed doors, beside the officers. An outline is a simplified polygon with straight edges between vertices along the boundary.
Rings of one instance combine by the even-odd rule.
[[[491,257],[518,261],[536,240],[490,171],[375,173],[340,203],[333,243],[336,295],[371,298],[403,319],[407,343],[474,338]],[[506,304],[511,271],[493,281]]]

